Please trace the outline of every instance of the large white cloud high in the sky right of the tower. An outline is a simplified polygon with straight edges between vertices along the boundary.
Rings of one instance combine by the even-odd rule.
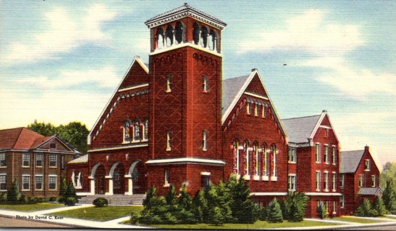
[[[258,32],[241,42],[239,52],[303,49],[318,54],[342,53],[364,43],[358,26],[327,23],[323,17],[322,11],[309,10],[287,20],[283,30]]]

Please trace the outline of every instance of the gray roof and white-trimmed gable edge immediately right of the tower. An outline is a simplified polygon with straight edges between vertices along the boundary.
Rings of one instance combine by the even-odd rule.
[[[226,79],[223,80],[223,109],[222,109],[222,118],[221,118],[221,124],[224,124],[226,122],[227,117],[230,115],[231,111],[234,109],[235,105],[238,103],[238,101],[241,99],[243,94],[246,92],[247,86],[249,86],[251,80],[257,76],[258,79],[260,80],[261,86],[263,87],[265,92],[268,92],[267,89],[265,88],[265,85],[263,83],[263,80],[258,73],[257,69],[252,69],[250,74],[247,76],[241,76],[233,79]],[[235,81],[235,82],[234,82]],[[235,85],[235,86],[232,86]],[[242,86],[241,86],[242,85]],[[235,95],[235,96],[234,96]],[[271,104],[272,109],[274,110],[276,120],[279,122],[279,128],[281,132],[287,137],[286,130],[283,127],[282,121],[279,119],[278,112],[275,109],[274,104],[272,103],[272,100],[267,94],[268,101]],[[227,106],[228,104],[228,106]]]

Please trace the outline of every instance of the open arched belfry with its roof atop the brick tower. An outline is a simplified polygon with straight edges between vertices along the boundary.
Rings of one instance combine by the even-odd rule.
[[[181,46],[220,53],[223,21],[199,11],[187,3],[148,19],[150,52],[162,52]]]

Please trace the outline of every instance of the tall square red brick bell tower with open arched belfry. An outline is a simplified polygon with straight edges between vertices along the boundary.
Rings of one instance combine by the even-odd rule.
[[[221,30],[223,21],[187,3],[147,20],[148,186],[188,184],[195,193],[222,179]]]

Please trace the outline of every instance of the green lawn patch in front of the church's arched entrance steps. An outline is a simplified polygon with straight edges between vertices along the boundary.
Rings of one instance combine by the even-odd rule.
[[[73,217],[88,220],[108,221],[121,217],[130,216],[132,212],[139,212],[143,206],[106,206],[88,207],[52,213],[56,216]]]

